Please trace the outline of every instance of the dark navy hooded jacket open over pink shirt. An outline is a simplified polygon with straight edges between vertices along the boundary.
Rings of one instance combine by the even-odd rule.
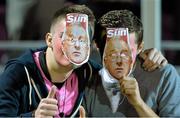
[[[35,88],[37,88],[42,98],[47,97],[48,90],[32,56],[35,51],[45,50],[46,48],[29,50],[19,58],[7,63],[0,76],[0,116],[31,117],[40,102]],[[28,72],[25,71],[25,67]],[[89,61],[74,70],[78,76],[79,95],[71,116],[78,111],[84,88],[92,75],[92,71],[96,71],[96,69],[99,69],[98,65]]]

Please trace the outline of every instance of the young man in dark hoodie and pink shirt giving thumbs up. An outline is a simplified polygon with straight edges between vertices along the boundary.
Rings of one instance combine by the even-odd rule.
[[[0,116],[76,115],[86,82],[96,70],[89,62],[77,68],[62,51],[62,35],[69,13],[88,16],[87,32],[92,39],[95,18],[89,8],[73,5],[58,10],[45,37],[47,47],[30,50],[7,63],[0,76]]]

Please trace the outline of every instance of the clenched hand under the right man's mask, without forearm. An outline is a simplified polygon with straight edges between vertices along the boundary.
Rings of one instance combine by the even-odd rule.
[[[142,104],[139,86],[135,78],[123,77],[119,83],[122,94],[127,97],[130,104],[134,107]]]

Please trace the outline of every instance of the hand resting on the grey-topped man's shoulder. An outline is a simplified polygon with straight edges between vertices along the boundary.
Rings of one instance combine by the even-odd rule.
[[[155,48],[147,49],[141,52],[140,57],[144,60],[142,66],[144,67],[144,70],[147,71],[153,71],[156,68],[161,68],[168,63],[162,53]]]

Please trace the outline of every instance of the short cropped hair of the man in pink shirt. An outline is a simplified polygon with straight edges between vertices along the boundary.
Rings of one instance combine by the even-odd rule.
[[[91,9],[89,9],[86,5],[70,5],[65,6],[59,10],[57,10],[51,20],[51,29],[52,27],[61,19],[66,18],[66,14],[68,13],[82,13],[88,15],[88,22],[89,25],[92,25],[92,28],[90,28],[90,38],[93,38],[94,35],[94,25],[95,25],[95,16]]]

